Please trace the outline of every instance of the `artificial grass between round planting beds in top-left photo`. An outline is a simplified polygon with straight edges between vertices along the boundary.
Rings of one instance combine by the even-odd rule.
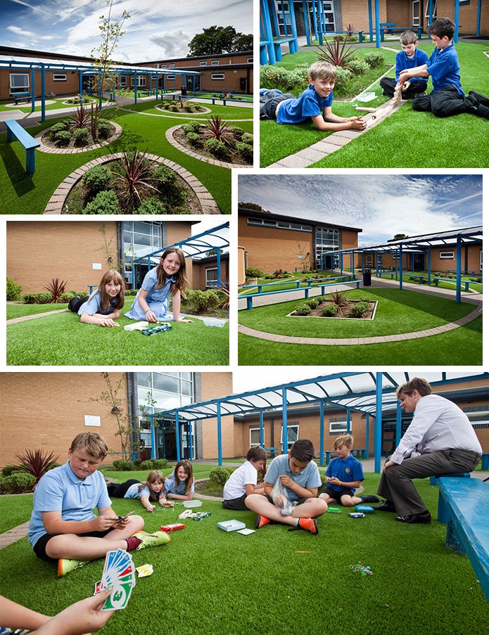
[[[152,108],[151,102],[137,105],[134,110]],[[238,116],[249,117],[243,108],[231,108]],[[103,111],[103,117],[118,122],[122,126],[122,135],[103,148],[87,150],[76,154],[36,153],[36,172],[25,174],[25,149],[18,142],[7,143],[7,134],[0,134],[0,182],[2,184],[2,203],[0,211],[8,214],[42,214],[53,191],[78,167],[95,158],[124,150],[137,148],[141,152],[170,159],[182,165],[193,174],[203,186],[208,188],[223,214],[231,213],[231,170],[211,165],[192,158],[174,148],[166,139],[168,128],[180,122],[182,117],[160,118],[145,117],[137,113],[118,108]],[[187,117],[188,119],[188,117]],[[37,132],[51,127],[58,119],[52,119],[28,129],[35,136]],[[247,122],[243,122],[243,129]],[[248,122],[252,126],[253,122]],[[252,132],[252,128],[246,132]]]

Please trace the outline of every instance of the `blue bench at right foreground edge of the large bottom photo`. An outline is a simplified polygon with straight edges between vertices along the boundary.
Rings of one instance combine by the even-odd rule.
[[[443,476],[438,487],[448,514],[446,546],[469,556],[489,601],[489,485],[478,478]]]

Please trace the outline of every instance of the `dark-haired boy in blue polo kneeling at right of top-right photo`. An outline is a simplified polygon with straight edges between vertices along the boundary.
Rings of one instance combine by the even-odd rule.
[[[407,82],[412,77],[430,77],[433,91],[412,102],[413,110],[429,111],[436,117],[450,117],[471,113],[489,119],[489,98],[469,91],[466,95],[460,83],[460,65],[452,42],[455,24],[450,18],[438,18],[428,27],[428,34],[436,48],[426,64],[400,73],[399,81]]]

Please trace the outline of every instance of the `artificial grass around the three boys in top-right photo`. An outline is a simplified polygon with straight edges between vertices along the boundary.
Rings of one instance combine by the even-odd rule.
[[[395,48],[399,46],[396,45]],[[420,44],[419,48],[426,51],[428,56],[433,52],[433,44],[428,41]],[[487,48],[487,44],[456,44],[462,88],[466,94],[470,90],[489,94],[489,60],[483,54]],[[395,57],[393,51],[382,52],[386,61],[390,62]],[[311,61],[315,60],[316,56],[312,51],[306,53]],[[293,62],[297,55],[284,56],[284,60],[290,58]],[[297,63],[299,61],[294,66]],[[486,72],[483,72],[484,68]],[[393,72],[389,75],[393,76]],[[376,84],[369,91],[375,91],[380,97],[382,89]],[[431,80],[428,81],[428,92],[431,92]],[[487,136],[487,120],[474,115],[434,117],[431,113],[417,113],[412,110],[411,103],[409,101],[378,126],[308,167],[480,168],[489,165],[488,144],[477,141]],[[355,103],[334,101],[333,112],[341,117],[351,117],[357,114],[353,105]],[[379,100],[364,105],[375,107],[379,105]],[[261,122],[260,165],[270,165],[312,143],[326,139],[329,134],[332,133],[319,132],[312,122],[281,126],[274,121]],[[436,151],[433,148],[445,150]]]

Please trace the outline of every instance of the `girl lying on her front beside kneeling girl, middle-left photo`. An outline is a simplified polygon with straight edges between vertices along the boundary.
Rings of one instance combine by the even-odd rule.
[[[80,316],[84,324],[119,326],[114,320],[120,316],[124,306],[125,283],[118,271],[109,269],[103,274],[99,287],[91,295],[80,298],[75,295],[68,309]]]

